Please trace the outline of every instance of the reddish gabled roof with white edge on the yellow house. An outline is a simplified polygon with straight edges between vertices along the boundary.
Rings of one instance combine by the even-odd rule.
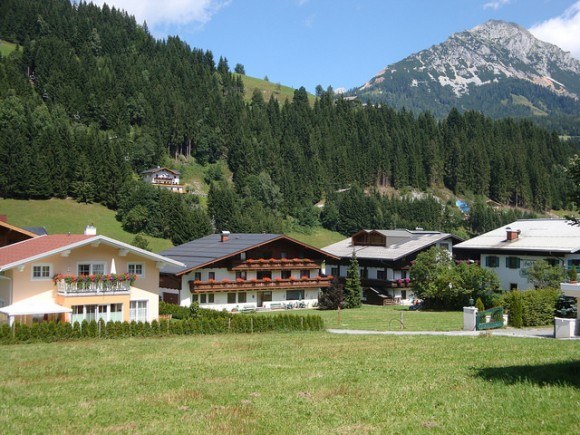
[[[0,248],[0,272],[96,242],[102,242],[109,246],[126,249],[136,255],[150,260],[183,267],[183,264],[179,261],[158,254],[153,254],[152,252],[145,251],[144,249],[137,248],[106,236],[54,234],[50,236],[38,236],[33,239],[24,240]]]

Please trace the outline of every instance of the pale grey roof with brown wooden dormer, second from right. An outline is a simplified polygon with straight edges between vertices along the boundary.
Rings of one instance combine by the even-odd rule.
[[[368,233],[377,232],[387,238],[395,240],[395,243],[387,246],[361,246],[352,244],[352,237],[322,248],[323,251],[341,258],[352,257],[354,249],[358,258],[378,259],[378,260],[398,260],[407,255],[413,254],[422,249],[426,249],[437,242],[452,238],[461,239],[453,234],[440,233],[438,231],[422,230],[362,230]],[[356,234],[360,234],[361,231]]]

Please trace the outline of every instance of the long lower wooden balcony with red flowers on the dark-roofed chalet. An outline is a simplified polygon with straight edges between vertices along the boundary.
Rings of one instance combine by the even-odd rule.
[[[192,293],[214,292],[237,292],[251,290],[284,290],[326,288],[330,286],[330,277],[320,276],[316,278],[302,279],[250,279],[239,281],[189,281],[189,289]]]

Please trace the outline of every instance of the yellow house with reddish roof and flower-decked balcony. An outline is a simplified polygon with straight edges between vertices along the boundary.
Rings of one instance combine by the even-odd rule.
[[[159,269],[183,264],[109,237],[44,235],[0,248],[0,321],[152,321]]]

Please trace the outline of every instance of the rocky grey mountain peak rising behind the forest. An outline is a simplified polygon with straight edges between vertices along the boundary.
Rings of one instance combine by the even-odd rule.
[[[523,27],[487,21],[387,66],[346,93],[438,117],[452,107],[580,134],[580,61]]]

